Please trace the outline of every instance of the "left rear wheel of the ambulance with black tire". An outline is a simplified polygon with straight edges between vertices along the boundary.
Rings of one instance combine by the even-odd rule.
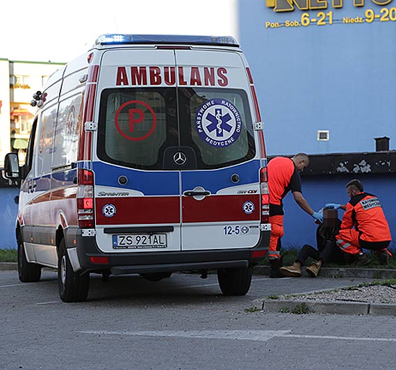
[[[60,241],[58,257],[58,289],[63,302],[81,302],[87,299],[90,288],[90,274],[75,273],[70,263],[65,246],[65,239]]]

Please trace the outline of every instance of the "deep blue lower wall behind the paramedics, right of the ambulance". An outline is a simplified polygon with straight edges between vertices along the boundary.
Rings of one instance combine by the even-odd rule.
[[[393,241],[390,248],[396,248],[396,174],[376,175],[313,175],[302,177],[304,198],[316,211],[329,202],[345,204],[349,201],[345,184],[352,178],[363,182],[365,191],[378,196],[383,211],[389,223]],[[286,195],[283,201],[285,211],[282,248],[302,247],[304,244],[316,246],[315,232],[317,225],[313,218],[299,208],[291,193]],[[338,210],[338,218],[343,217],[344,212]]]

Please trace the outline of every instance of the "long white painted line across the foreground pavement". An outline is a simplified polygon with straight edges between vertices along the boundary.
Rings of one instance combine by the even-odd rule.
[[[396,338],[363,338],[363,337],[337,337],[335,335],[300,335],[290,334],[290,330],[142,330],[142,331],[106,331],[106,330],[83,330],[81,334],[87,335],[134,335],[142,337],[181,337],[181,338],[204,338],[204,339],[238,339],[251,341],[268,341],[281,338],[304,338],[304,339],[335,339],[346,341],[390,341],[396,342]]]

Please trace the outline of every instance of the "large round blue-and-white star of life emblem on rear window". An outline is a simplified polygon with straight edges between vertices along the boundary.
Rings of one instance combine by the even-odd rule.
[[[202,140],[214,147],[236,142],[242,129],[242,118],[236,106],[226,99],[211,99],[195,115],[195,127]]]

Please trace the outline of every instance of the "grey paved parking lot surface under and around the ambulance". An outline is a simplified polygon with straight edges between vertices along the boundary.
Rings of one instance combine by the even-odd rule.
[[[227,297],[216,275],[93,277],[87,302],[63,303],[55,272],[23,284],[0,271],[0,369],[313,369],[313,354],[321,369],[394,369],[395,317],[252,309],[266,296],[361,281],[255,275],[247,296]]]

